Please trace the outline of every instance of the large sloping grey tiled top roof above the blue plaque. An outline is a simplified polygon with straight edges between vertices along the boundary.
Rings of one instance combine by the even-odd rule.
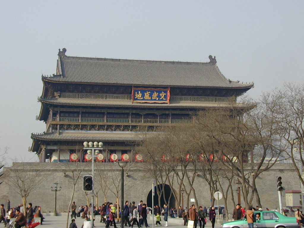
[[[62,56],[57,73],[44,81],[102,85],[239,88],[244,84],[226,79],[216,64]]]

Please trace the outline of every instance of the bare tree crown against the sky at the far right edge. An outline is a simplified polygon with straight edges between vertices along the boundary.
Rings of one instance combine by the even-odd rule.
[[[304,84],[285,83],[262,96],[268,111],[274,116],[278,133],[279,149],[284,151],[304,185]]]

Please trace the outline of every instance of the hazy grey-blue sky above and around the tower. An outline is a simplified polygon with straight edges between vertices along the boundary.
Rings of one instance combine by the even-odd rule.
[[[28,152],[41,74],[56,73],[67,55],[209,61],[226,78],[251,82],[247,94],[303,83],[304,1],[1,1],[0,147],[7,157]],[[9,159],[7,160],[9,161]]]

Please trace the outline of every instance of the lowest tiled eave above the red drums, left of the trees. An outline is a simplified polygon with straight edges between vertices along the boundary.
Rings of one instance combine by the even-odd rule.
[[[33,140],[43,140],[43,141],[86,141],[88,139],[94,141],[103,142],[139,142],[143,140],[143,137],[139,133],[133,132],[105,132],[96,131],[92,132],[62,132],[57,133],[32,133],[31,138]]]

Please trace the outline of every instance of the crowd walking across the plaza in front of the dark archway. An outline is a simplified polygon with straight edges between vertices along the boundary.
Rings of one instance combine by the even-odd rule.
[[[96,208],[93,206],[93,216],[91,204],[89,206],[77,206],[75,202],[73,202],[71,206],[71,219],[72,222],[69,228],[77,228],[75,219],[83,218],[85,220],[95,220],[96,216],[100,216],[100,223],[105,223],[105,227],[109,228],[110,226],[114,226],[117,228],[115,220],[119,220],[117,218],[117,203],[113,204],[112,202],[105,202],[102,206]],[[126,201],[123,206],[123,215],[124,215],[124,225],[132,227],[137,226],[140,227],[149,227],[147,222],[147,214],[152,213],[147,205],[143,203],[141,200],[139,204],[135,204],[135,202]],[[207,209],[206,207],[199,207],[199,210],[195,208],[195,205],[192,205],[189,210],[182,209],[181,206],[177,208],[169,208],[167,204],[164,204],[163,207],[155,205],[153,208],[153,214],[155,216],[155,226],[162,226],[161,221],[164,220],[164,226],[168,226],[168,217],[171,218],[182,218],[184,220],[184,226],[188,225],[188,221],[194,221],[195,228],[199,224],[200,228],[204,228],[207,223]],[[74,219],[73,219],[74,217]],[[121,215],[119,216],[121,219]],[[211,221],[215,221],[214,219],[210,218]],[[83,225],[82,225],[83,226]]]

